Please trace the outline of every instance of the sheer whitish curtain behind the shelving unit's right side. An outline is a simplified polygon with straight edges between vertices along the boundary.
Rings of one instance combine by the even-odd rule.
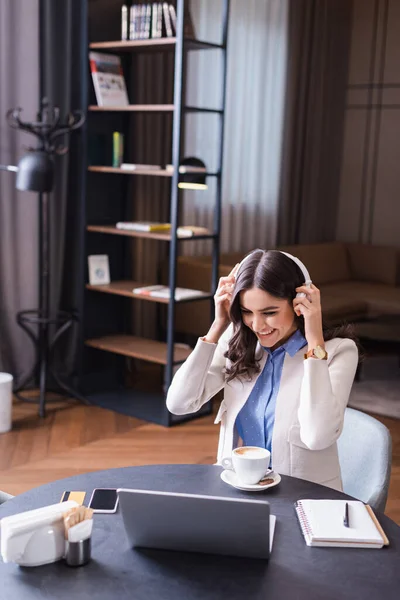
[[[221,1],[191,2],[200,39],[220,43]],[[283,106],[287,64],[288,0],[231,0],[222,190],[221,252],[246,252],[276,242]],[[189,58],[187,104],[220,107],[220,51]],[[189,115],[186,155],[217,167],[218,116]],[[184,224],[212,228],[215,181],[206,192],[185,192]],[[210,253],[209,242],[187,253]]]

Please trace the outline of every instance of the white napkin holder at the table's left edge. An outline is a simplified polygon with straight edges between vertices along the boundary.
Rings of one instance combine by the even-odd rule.
[[[38,567],[64,558],[63,514],[75,506],[77,502],[68,500],[1,519],[3,561]]]

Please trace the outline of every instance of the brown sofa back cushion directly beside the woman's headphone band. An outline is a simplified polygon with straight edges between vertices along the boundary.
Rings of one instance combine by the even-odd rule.
[[[304,244],[300,246],[280,246],[297,256],[307,267],[315,285],[350,279],[347,250],[345,244]]]

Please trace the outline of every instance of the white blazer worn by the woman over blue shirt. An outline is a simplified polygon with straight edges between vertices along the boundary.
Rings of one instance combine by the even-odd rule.
[[[259,376],[250,381],[226,382],[224,370],[229,361],[224,354],[231,335],[229,327],[218,344],[199,339],[177,371],[167,395],[168,410],[185,415],[198,411],[224,389],[215,419],[215,423],[221,423],[218,463],[238,445],[236,417]],[[356,344],[347,338],[329,340],[325,348],[328,360],[304,360],[304,348],[293,357],[285,355],[276,400],[272,467],[284,475],[342,490],[336,440],[342,432],[358,352]],[[262,371],[268,353],[259,343],[256,356]]]

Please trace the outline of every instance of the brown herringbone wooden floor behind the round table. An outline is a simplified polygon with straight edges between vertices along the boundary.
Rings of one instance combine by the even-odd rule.
[[[391,431],[393,467],[386,514],[400,524],[400,421]],[[78,473],[144,464],[215,462],[218,426],[203,417],[166,429],[75,402],[14,404],[13,430],[0,435],[0,489],[20,494]]]

